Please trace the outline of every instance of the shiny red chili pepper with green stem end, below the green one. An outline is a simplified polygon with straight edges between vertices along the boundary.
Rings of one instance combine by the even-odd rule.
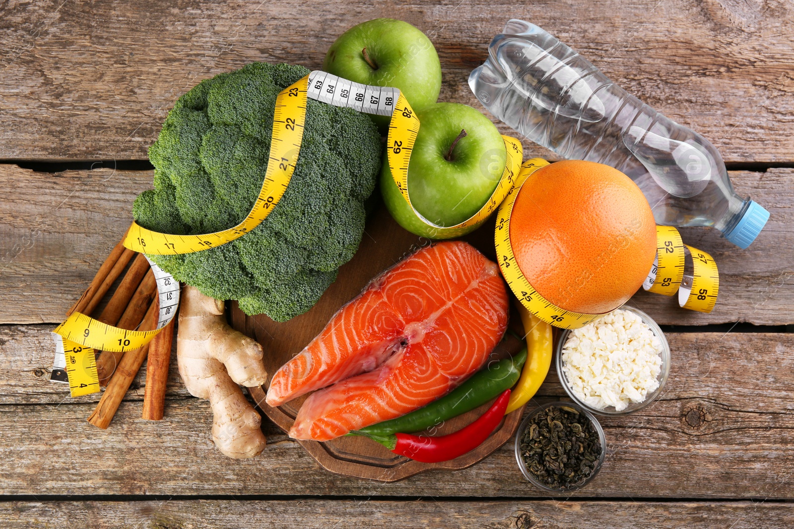
[[[449,461],[474,450],[485,439],[488,439],[488,435],[491,435],[491,432],[502,420],[504,411],[507,409],[507,401],[510,401],[510,389],[505,389],[491,404],[491,408],[488,408],[488,411],[479,419],[449,435],[430,437],[430,435],[399,433],[384,436],[372,435],[371,437],[395,454],[404,455],[418,462]]]

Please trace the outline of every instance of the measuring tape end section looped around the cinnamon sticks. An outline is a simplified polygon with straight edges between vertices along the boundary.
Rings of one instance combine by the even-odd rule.
[[[149,261],[149,266],[152,267],[160,302],[156,330],[129,331],[94,320],[80,312],[72,312],[64,323],[52,331],[56,347],[53,372],[65,370],[67,374],[67,377],[53,377],[53,380],[68,381],[72,397],[99,391],[96,365],[98,351],[140,349],[173,319],[179,305],[179,282],[152,261]]]

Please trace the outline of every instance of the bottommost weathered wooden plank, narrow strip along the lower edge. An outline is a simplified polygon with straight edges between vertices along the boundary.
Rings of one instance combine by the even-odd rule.
[[[395,523],[395,519],[399,520]],[[22,527],[202,527],[202,529],[777,529],[794,523],[794,505],[740,502],[168,500],[0,503],[0,523]]]

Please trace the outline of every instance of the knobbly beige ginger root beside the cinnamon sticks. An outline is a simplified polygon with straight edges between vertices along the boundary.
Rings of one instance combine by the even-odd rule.
[[[180,305],[179,374],[191,395],[209,399],[212,438],[218,450],[229,458],[252,458],[264,450],[267,441],[260,416],[239,385],[250,388],[267,380],[262,346],[229,327],[223,301],[185,286]]]

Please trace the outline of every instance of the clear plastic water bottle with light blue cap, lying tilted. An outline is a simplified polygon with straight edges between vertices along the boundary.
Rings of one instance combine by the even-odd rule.
[[[495,117],[535,143],[628,175],[658,224],[714,226],[746,248],[769,219],[736,194],[708,140],[627,94],[534,24],[507,22],[468,85]]]

